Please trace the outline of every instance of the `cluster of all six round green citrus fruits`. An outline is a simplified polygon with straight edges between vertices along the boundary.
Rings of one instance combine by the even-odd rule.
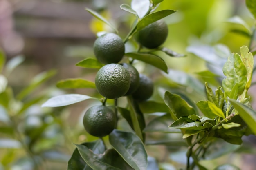
[[[167,38],[168,27],[159,20],[135,34],[135,40],[148,49],[157,48]],[[153,95],[153,82],[128,63],[120,63],[125,54],[125,45],[119,35],[106,33],[94,42],[94,55],[105,66],[95,77],[97,91],[106,99],[131,95],[136,101],[145,101]],[[116,127],[117,116],[107,106],[93,106],[83,117],[85,130],[94,136],[108,135]]]

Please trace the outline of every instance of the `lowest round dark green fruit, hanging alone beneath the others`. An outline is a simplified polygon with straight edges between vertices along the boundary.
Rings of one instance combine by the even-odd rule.
[[[102,105],[90,107],[83,116],[85,130],[97,137],[110,134],[115,129],[116,123],[117,117],[113,110]]]

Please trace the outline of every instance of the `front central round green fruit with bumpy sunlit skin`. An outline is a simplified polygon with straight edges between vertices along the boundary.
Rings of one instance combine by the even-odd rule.
[[[97,91],[108,99],[124,96],[130,88],[130,75],[120,64],[107,64],[96,74]]]

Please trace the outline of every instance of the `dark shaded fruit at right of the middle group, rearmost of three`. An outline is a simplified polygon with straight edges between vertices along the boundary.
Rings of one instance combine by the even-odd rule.
[[[149,99],[153,95],[154,84],[152,80],[144,74],[139,74],[139,87],[132,93],[132,97],[138,101]]]

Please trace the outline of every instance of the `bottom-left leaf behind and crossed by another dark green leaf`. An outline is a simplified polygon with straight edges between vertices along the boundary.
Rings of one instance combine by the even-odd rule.
[[[95,154],[102,154],[105,151],[105,146],[102,140],[97,140],[93,142],[85,142],[81,145],[86,146],[88,149],[92,150]],[[92,170],[90,166],[83,160],[78,149],[76,148],[72,154],[72,157],[68,161],[67,170]]]

